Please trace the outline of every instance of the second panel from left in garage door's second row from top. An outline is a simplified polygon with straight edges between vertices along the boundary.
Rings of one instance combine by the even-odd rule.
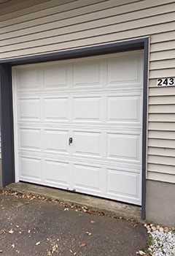
[[[69,97],[44,98],[45,121],[69,121]]]

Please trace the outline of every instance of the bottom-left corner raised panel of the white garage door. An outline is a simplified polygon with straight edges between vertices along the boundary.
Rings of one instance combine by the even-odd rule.
[[[23,181],[42,181],[42,159],[20,157],[20,178]]]

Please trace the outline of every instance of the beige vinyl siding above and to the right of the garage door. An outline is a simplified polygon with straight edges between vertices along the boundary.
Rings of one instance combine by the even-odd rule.
[[[156,86],[175,77],[174,17],[174,0],[12,0],[0,10],[0,59],[149,37],[147,178],[174,182],[175,87]]]

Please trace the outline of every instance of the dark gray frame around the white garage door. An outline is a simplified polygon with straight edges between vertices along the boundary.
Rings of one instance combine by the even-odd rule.
[[[118,53],[128,50],[144,49],[144,102],[143,102],[143,135],[142,135],[142,199],[141,217],[145,219],[146,204],[146,166],[147,166],[147,74],[149,38],[133,39],[131,41],[114,42],[88,48],[66,50],[59,53],[46,53],[23,58],[0,61],[0,118],[1,118],[1,157],[2,157],[2,185],[3,187],[15,182],[15,152],[14,127],[12,109],[12,67],[15,65],[35,64],[46,61],[76,59],[88,56],[98,56]]]

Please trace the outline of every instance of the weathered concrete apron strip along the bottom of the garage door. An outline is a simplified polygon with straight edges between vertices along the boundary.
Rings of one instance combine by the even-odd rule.
[[[20,192],[24,195],[36,195],[45,198],[52,198],[63,203],[75,204],[77,206],[87,206],[92,211],[102,211],[106,215],[136,219],[143,223],[141,219],[141,207],[131,206],[126,203],[118,203],[100,197],[82,195],[77,192],[68,192],[62,189],[54,189],[23,182],[13,183],[4,188],[9,192]]]

